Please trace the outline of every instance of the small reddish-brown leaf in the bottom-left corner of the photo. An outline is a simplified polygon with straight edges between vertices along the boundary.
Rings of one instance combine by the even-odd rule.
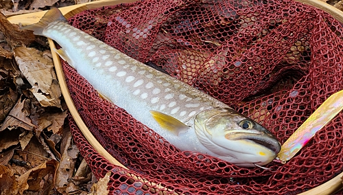
[[[0,193],[14,195],[18,194],[18,182],[12,170],[0,165]]]

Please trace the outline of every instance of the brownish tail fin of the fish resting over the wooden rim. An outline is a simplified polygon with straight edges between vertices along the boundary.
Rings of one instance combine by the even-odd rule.
[[[58,10],[58,8],[51,8],[51,10],[47,11],[43,18],[40,19],[38,23],[34,23],[32,25],[27,25],[25,27],[22,27],[22,30],[32,30],[34,34],[43,36],[43,30],[49,23],[52,23],[54,21],[67,21],[66,18],[64,18],[62,12]]]

